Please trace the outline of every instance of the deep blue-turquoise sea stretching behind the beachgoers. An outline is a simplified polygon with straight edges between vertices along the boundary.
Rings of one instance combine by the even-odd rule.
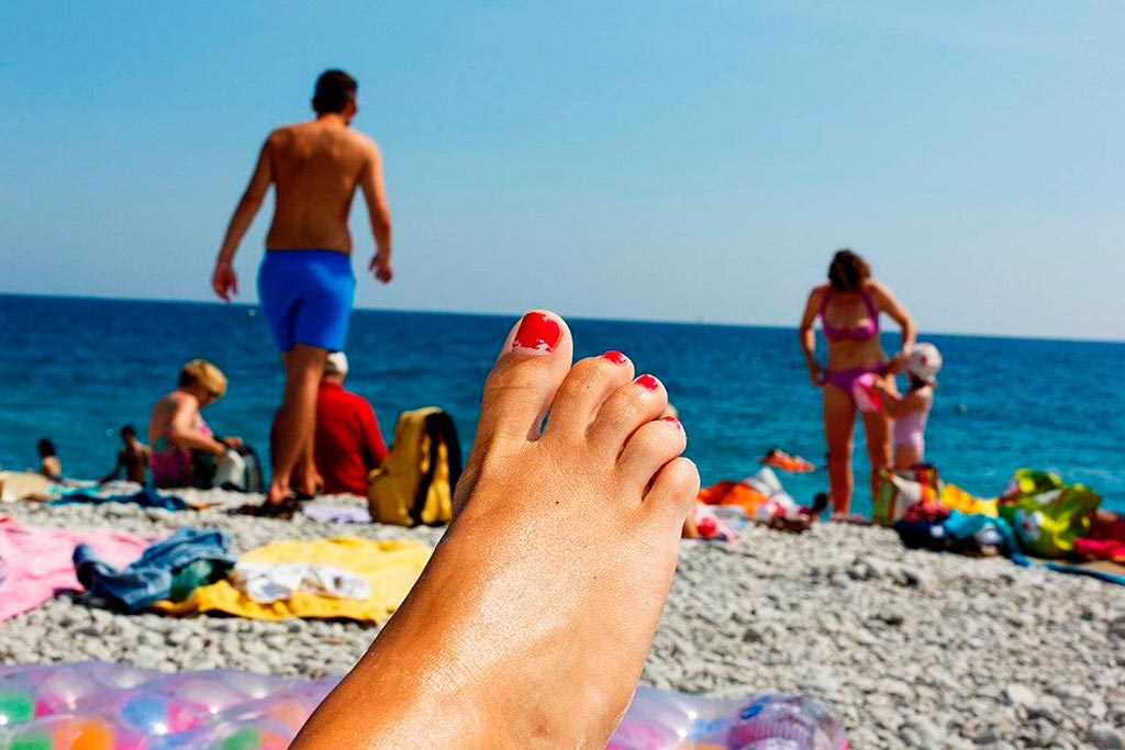
[[[388,441],[398,412],[436,404],[468,449],[482,382],[514,319],[357,311],[349,387],[375,404]],[[820,394],[808,385],[794,331],[570,324],[577,355],[620,349],[665,382],[705,484],[753,472],[773,445],[822,463]],[[1014,469],[1051,469],[1125,510],[1125,344],[921,337],[945,356],[927,451],[946,480],[994,495]],[[281,369],[251,308],[0,296],[0,467],[35,466],[35,442],[50,436],[69,476],[105,473],[116,430],[132,422],[143,432],[153,401],[196,356],[231,380],[208,422],[267,446]],[[857,448],[862,490],[860,433]],[[783,480],[799,500],[827,485],[822,471]],[[870,499],[857,491],[854,505],[866,510]]]

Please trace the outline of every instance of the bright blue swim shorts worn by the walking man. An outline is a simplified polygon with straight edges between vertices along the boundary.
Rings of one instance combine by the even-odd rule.
[[[268,250],[258,269],[258,299],[282,352],[343,351],[354,297],[351,256],[334,250]]]

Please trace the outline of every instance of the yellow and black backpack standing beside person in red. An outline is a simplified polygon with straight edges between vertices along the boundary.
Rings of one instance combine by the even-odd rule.
[[[435,406],[403,412],[387,458],[368,475],[371,521],[398,526],[448,523],[460,476],[453,419]]]

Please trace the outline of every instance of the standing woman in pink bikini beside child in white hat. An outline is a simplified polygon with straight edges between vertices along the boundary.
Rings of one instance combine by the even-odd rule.
[[[902,329],[900,353],[888,358],[879,340],[879,316],[885,313]],[[827,367],[817,362],[813,324],[820,318],[828,343]],[[915,324],[891,290],[871,278],[871,266],[850,250],[840,250],[828,266],[828,283],[809,295],[801,317],[801,349],[809,380],[824,390],[825,440],[832,516],[846,516],[852,505],[852,434],[858,412],[852,397],[855,380],[866,373],[898,371],[915,342]],[[879,469],[891,466],[891,424],[882,412],[861,413],[871,459],[872,487]]]

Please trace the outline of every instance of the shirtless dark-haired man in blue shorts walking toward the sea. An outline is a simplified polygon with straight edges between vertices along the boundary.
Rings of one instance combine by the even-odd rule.
[[[328,353],[342,351],[356,278],[351,268],[348,214],[356,190],[363,192],[377,252],[368,268],[387,283],[390,266],[390,210],[382,184],[382,157],[367,136],[351,129],[356,80],[343,71],[316,81],[316,118],[278,128],[262,146],[258,165],[223,240],[212,288],[225,301],[238,291],[231,262],[270,184],[273,222],[258,273],[258,296],[286,369],[285,397],[278,409],[272,446],[273,477],[266,500],[289,497],[290,481],[316,493],[313,434],[316,392]]]

